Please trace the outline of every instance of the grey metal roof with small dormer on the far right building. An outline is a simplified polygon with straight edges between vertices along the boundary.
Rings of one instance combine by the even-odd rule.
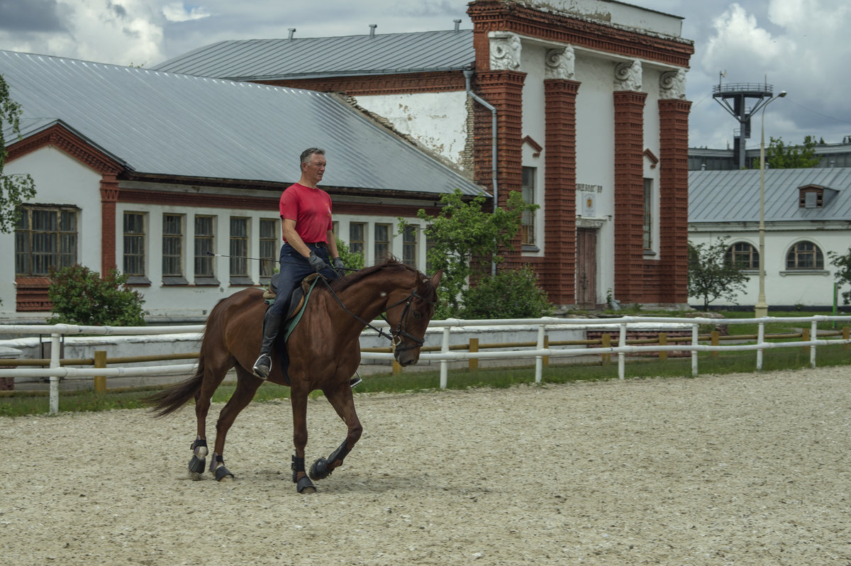
[[[798,206],[798,189],[833,189],[820,209]],[[767,169],[765,220],[851,220],[851,168]],[[759,169],[690,171],[688,222],[758,222]]]

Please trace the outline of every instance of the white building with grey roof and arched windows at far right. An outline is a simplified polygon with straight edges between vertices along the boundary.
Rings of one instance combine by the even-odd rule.
[[[851,246],[851,169],[765,171],[764,258],[759,176],[758,169],[688,174],[688,239],[698,244],[728,237],[728,254],[750,275],[732,305],[717,300],[712,306],[754,306],[761,260],[769,309],[831,306],[836,268],[829,254],[847,254]]]

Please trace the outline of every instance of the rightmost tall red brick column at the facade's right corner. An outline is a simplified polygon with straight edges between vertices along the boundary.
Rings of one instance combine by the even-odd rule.
[[[688,100],[659,101],[660,302],[688,302]]]

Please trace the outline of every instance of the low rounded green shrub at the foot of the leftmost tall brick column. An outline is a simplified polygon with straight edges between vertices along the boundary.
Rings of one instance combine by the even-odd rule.
[[[531,267],[498,272],[463,292],[462,318],[538,318],[552,313]]]

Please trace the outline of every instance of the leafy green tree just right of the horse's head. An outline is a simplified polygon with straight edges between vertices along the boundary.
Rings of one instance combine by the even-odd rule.
[[[417,216],[426,221],[426,237],[432,243],[428,261],[435,272],[443,270],[443,279],[437,294],[440,302],[435,317],[457,317],[460,313],[462,291],[471,275],[484,275],[491,262],[500,263],[500,249],[509,248],[511,240],[520,230],[524,210],[533,211],[536,204],[527,204],[523,195],[511,191],[505,208],[492,212],[484,207],[484,195],[464,202],[462,193],[444,194],[443,208],[437,216],[420,209]],[[399,222],[399,231],[406,226]]]

